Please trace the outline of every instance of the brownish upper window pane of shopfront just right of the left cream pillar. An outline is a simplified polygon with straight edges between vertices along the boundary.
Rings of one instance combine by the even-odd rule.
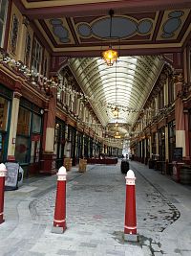
[[[31,111],[19,108],[17,134],[29,136],[31,126]]]

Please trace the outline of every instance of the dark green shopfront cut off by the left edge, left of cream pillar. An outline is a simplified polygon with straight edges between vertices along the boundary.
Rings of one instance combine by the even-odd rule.
[[[7,160],[12,91],[0,84],[0,163]]]

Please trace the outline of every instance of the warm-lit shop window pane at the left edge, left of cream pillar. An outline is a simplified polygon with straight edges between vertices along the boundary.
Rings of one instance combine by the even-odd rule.
[[[0,97],[0,130],[7,130],[9,101]]]

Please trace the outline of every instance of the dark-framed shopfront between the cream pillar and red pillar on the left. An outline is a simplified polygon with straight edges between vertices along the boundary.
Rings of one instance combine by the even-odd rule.
[[[37,175],[40,169],[42,115],[37,105],[21,98],[15,145],[15,160],[25,169],[25,175]]]

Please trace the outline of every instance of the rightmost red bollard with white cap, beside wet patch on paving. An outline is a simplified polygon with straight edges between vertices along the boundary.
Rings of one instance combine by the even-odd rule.
[[[132,170],[127,172],[126,179],[126,204],[125,204],[125,225],[124,239],[137,242],[137,217],[136,217],[136,177]]]

